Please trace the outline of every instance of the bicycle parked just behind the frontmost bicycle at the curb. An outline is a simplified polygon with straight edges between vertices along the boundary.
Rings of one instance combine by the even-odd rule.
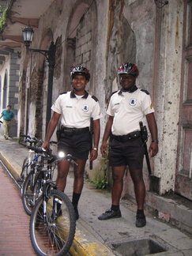
[[[56,141],[50,141],[51,145],[54,145],[56,143]],[[43,168],[43,161],[42,153],[35,152],[32,149],[29,150],[35,153],[35,157],[30,163],[28,163],[28,167],[30,167],[30,172],[28,173],[28,176],[26,177],[23,185],[21,186],[21,198],[24,206],[24,211],[28,215],[31,215],[32,207],[35,205],[36,200],[40,197],[40,194],[42,194],[42,173],[40,170],[41,168]],[[55,163],[50,165],[50,178],[54,174],[55,168]]]

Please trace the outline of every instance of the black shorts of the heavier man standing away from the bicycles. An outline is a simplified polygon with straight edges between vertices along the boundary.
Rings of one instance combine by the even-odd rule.
[[[126,142],[112,139],[109,152],[109,165],[112,167],[126,166],[131,169],[142,169],[145,148],[141,137]]]

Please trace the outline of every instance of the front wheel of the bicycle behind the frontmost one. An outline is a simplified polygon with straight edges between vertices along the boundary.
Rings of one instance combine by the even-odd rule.
[[[34,177],[35,176],[35,177]],[[35,180],[34,186],[32,185],[32,177]],[[24,206],[24,211],[28,214],[32,214],[32,208],[36,203],[36,200],[40,197],[40,188],[41,188],[41,176],[40,173],[36,173],[33,176],[29,173],[27,179],[24,181],[22,187],[22,202]]]

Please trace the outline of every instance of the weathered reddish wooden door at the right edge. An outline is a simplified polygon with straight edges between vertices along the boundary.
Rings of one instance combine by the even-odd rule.
[[[192,200],[192,1],[184,0],[183,65],[175,192]]]

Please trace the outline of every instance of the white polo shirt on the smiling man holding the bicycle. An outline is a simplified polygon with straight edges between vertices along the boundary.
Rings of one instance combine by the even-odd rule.
[[[60,94],[51,109],[61,114],[61,124],[69,128],[89,127],[91,117],[93,120],[103,117],[98,100],[86,91],[81,98],[73,91]]]

